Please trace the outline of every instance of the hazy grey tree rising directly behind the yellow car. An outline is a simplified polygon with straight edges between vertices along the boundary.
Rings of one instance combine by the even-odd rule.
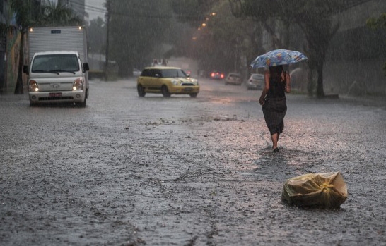
[[[163,58],[163,44],[170,32],[172,11],[168,0],[110,1],[109,56],[119,76],[129,76],[135,66]]]

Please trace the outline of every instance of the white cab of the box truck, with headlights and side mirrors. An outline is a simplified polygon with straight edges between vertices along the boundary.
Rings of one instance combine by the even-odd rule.
[[[85,73],[88,69],[88,63],[82,64],[76,51],[35,53],[30,66],[23,67],[23,72],[29,75],[30,106],[49,102],[86,106]]]

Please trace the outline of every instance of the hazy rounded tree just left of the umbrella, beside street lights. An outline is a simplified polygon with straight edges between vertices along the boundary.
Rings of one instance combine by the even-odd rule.
[[[207,20],[207,25],[203,28],[207,30],[200,32],[206,37],[201,42],[201,47],[211,44],[206,51],[211,57],[201,54],[200,63],[207,63],[205,67],[222,69],[225,72],[242,73],[242,69],[247,69],[245,60],[247,63],[252,61],[262,50],[260,39],[257,38],[262,35],[260,25],[251,18],[235,18],[228,1],[219,1],[209,12],[216,15]]]

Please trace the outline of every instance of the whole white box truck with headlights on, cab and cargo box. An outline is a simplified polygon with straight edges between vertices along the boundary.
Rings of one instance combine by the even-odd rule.
[[[85,107],[88,97],[86,30],[83,26],[30,27],[28,30],[30,106],[73,103]]]

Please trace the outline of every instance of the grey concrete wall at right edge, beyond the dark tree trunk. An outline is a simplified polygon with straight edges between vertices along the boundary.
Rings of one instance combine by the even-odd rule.
[[[378,18],[381,13],[385,12],[386,1],[373,0],[334,16],[341,24],[336,36],[342,37],[350,33],[351,38],[354,37],[354,44],[351,47],[348,45],[339,47],[339,49],[330,46],[329,59],[324,63],[323,73],[326,94],[333,92],[351,95],[386,95],[386,76],[385,71],[382,70],[382,65],[386,62],[386,56],[383,54],[383,51],[386,50],[386,39],[383,46],[382,42],[381,44],[378,42],[376,45],[379,47],[374,47],[372,39],[363,37],[368,31],[365,27],[366,20],[370,17]],[[386,29],[383,31],[386,32]],[[373,51],[369,57],[365,57],[365,52],[363,52],[366,48]],[[358,49],[361,49],[361,52]],[[374,54],[374,49],[379,49],[380,52]],[[339,59],[333,59],[334,52],[340,54]],[[358,52],[358,56],[353,55],[355,52]],[[350,58],[344,59],[345,54]]]

